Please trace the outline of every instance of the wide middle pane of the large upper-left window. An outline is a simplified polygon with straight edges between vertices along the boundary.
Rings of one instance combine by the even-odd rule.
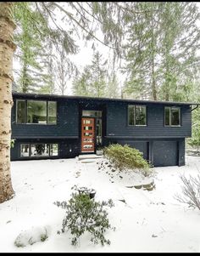
[[[30,123],[47,123],[47,102],[28,100],[27,119]]]

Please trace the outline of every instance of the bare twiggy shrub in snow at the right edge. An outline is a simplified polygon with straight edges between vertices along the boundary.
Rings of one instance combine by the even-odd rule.
[[[195,178],[190,175],[189,179],[181,175],[181,180],[183,182],[183,195],[175,195],[175,199],[188,204],[189,208],[198,208],[200,210],[200,175],[198,174]]]

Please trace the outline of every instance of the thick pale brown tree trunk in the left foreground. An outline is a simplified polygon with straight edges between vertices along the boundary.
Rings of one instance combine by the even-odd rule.
[[[0,203],[14,196],[10,175],[12,71],[15,50],[13,7],[12,2],[0,3]]]

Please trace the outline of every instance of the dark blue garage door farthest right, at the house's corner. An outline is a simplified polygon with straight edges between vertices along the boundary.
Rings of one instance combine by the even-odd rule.
[[[178,165],[177,141],[154,141],[153,165],[155,167]]]

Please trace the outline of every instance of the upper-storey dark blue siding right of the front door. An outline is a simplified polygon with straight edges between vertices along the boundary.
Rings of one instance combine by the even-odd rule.
[[[164,127],[164,105],[147,105],[147,126],[128,125],[128,104],[124,102],[107,105],[107,133],[111,137],[156,138],[191,137],[192,113],[190,105],[181,105],[181,127]]]

